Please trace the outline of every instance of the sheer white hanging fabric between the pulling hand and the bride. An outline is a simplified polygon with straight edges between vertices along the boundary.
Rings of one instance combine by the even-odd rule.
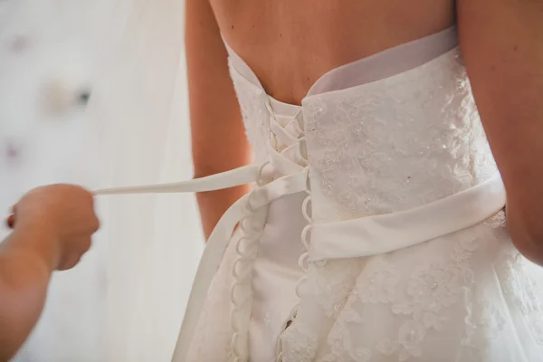
[[[118,0],[119,1],[119,0]],[[120,1],[119,1],[120,4]],[[93,188],[192,177],[184,2],[125,1],[127,14],[93,90]],[[90,132],[90,134],[94,134]],[[98,198],[109,248],[108,360],[169,360],[204,248],[194,195]]]

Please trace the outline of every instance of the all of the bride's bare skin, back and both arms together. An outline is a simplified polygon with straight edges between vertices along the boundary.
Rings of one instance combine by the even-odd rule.
[[[543,264],[543,2],[186,0],[195,176],[250,162],[224,39],[266,91],[300,104],[325,72],[457,21],[472,90],[507,193],[513,243]],[[246,188],[198,195],[205,234]]]

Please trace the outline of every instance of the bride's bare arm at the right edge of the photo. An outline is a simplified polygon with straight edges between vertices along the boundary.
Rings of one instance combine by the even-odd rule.
[[[473,95],[507,189],[511,237],[543,265],[543,2],[457,6]]]

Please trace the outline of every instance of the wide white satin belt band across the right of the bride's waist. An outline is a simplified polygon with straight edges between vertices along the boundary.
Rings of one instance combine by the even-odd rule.
[[[312,224],[309,261],[407,248],[479,224],[505,203],[505,187],[497,174],[478,186],[404,212]]]

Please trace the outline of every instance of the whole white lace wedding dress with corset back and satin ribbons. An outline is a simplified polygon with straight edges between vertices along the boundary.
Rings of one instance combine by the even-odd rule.
[[[455,28],[329,71],[301,106],[228,51],[256,164],[101,192],[255,184],[208,241],[175,361],[543,360]]]

